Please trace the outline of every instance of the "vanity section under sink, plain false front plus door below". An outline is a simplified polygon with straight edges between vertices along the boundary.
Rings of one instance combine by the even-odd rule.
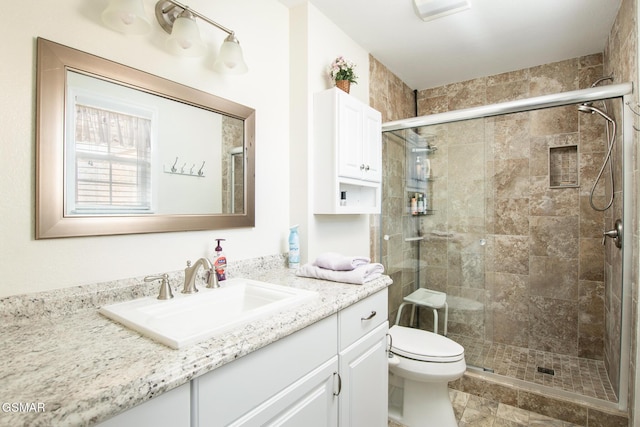
[[[194,426],[338,425],[337,316],[193,380]]]

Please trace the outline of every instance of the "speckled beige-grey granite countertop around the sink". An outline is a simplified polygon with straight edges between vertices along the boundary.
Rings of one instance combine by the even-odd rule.
[[[387,276],[365,285],[308,279],[284,267],[249,268],[243,273],[236,277],[314,290],[319,296],[180,350],[143,337],[97,312],[100,305],[157,292],[157,284],[141,285],[139,278],[122,286],[109,283],[0,300],[4,359],[0,364],[0,426],[95,424],[391,284]],[[170,279],[174,290],[179,287],[179,275],[177,272]],[[13,403],[26,403],[31,411],[12,412],[7,405]]]

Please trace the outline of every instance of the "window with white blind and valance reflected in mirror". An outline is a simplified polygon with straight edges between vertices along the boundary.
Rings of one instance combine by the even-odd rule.
[[[76,102],[74,154],[74,213],[151,209],[150,118]]]

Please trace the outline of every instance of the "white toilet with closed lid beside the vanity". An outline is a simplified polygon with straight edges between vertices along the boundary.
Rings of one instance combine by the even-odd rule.
[[[456,427],[448,383],[467,368],[464,348],[404,326],[392,326],[389,335],[389,418],[407,427]]]

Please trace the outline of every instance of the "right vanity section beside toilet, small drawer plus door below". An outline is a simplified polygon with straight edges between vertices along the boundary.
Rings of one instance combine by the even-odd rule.
[[[388,424],[387,290],[338,313],[340,426]]]

